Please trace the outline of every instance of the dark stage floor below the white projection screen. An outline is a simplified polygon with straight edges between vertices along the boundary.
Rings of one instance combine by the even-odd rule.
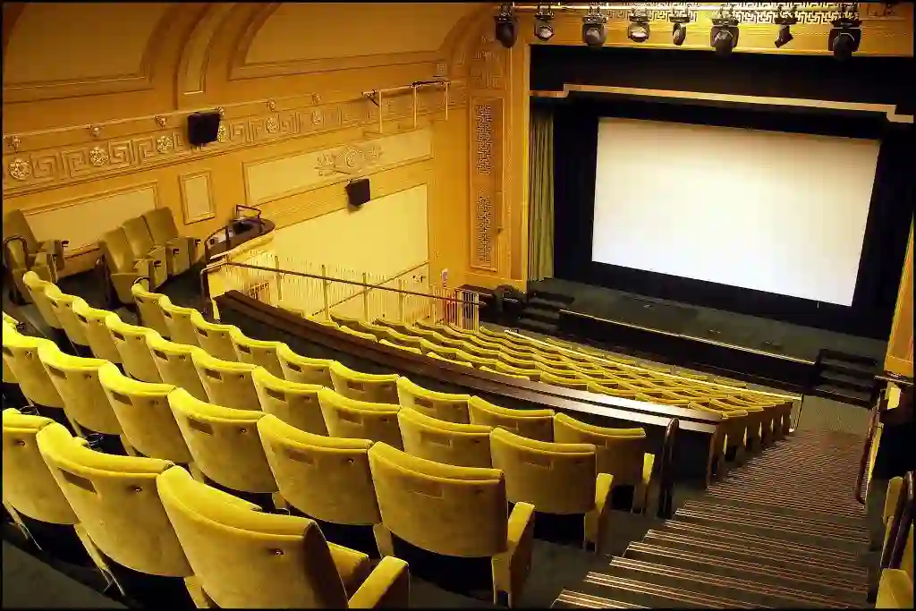
[[[886,341],[867,337],[644,297],[558,278],[531,282],[529,290],[566,295],[573,299],[567,310],[596,318],[791,356],[812,363],[821,350],[866,356],[882,363],[888,345]]]

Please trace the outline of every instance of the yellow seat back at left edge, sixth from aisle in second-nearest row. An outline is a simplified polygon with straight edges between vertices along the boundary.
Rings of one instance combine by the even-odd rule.
[[[63,398],[51,384],[48,372],[38,358],[38,348],[57,348],[43,337],[23,335],[6,321],[3,322],[3,359],[10,372],[16,377],[22,394],[34,405],[49,408],[63,408]]]

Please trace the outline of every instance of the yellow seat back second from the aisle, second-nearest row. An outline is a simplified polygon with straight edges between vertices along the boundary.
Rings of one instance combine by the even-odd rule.
[[[314,435],[272,415],[257,421],[257,431],[280,495],[290,505],[334,524],[382,521],[369,471],[372,442]]]

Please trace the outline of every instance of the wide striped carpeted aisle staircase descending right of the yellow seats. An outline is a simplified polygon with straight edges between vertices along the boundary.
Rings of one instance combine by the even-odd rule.
[[[863,440],[796,431],[734,468],[556,608],[867,607]]]

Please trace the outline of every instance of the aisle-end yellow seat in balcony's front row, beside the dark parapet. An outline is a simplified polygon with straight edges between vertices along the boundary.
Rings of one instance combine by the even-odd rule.
[[[557,414],[553,417],[553,439],[594,445],[598,472],[612,475],[615,488],[633,486],[634,511],[642,512],[649,506],[655,454],[646,452],[649,441],[644,429],[610,429]]]

